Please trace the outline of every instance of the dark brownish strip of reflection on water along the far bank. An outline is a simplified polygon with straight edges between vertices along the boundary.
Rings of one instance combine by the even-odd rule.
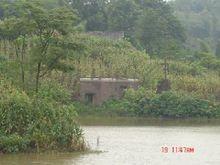
[[[220,126],[220,119],[158,119],[131,117],[83,117],[78,119],[85,126]]]

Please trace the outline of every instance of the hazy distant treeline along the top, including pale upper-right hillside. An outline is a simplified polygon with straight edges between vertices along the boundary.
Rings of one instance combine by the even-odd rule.
[[[25,0],[31,2],[32,0]],[[22,3],[25,1],[5,0]],[[33,1],[34,2],[34,1]],[[123,31],[137,49],[150,56],[183,58],[200,44],[220,56],[218,0],[39,0],[46,8],[66,6],[82,31]],[[8,14],[1,5],[0,18]],[[11,13],[13,11],[10,11]],[[15,14],[15,13],[14,13]]]

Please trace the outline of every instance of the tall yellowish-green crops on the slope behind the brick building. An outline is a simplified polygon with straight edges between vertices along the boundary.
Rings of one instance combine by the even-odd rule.
[[[112,41],[85,34],[76,37],[83,43],[83,55],[72,54],[68,61],[75,66],[76,75],[81,77],[138,78],[146,90],[156,91],[158,81],[163,78],[163,63],[147,57],[124,40]],[[212,58],[213,63],[207,60]],[[208,62],[205,63],[205,62]],[[212,60],[211,60],[212,62]],[[176,91],[196,93],[202,99],[219,101],[218,60],[210,53],[196,53],[189,60],[168,60],[168,79]],[[68,76],[66,79],[69,81]]]

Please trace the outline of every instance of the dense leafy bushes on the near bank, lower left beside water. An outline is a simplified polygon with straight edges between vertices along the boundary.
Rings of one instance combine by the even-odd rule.
[[[1,79],[0,90],[0,152],[85,149],[64,89],[47,84],[29,97]]]

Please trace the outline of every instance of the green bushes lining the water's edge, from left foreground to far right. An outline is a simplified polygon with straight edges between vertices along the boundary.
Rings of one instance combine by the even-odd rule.
[[[161,119],[220,118],[219,104],[175,91],[155,94],[129,89],[121,100],[100,106],[73,102],[71,94],[56,84],[27,94],[0,79],[0,91],[0,153],[86,151],[83,122],[78,122],[83,116],[92,116],[91,123],[100,116],[104,121],[111,117],[112,123],[117,123],[117,117],[135,117],[139,123],[152,123],[149,118],[154,118],[154,124]]]

